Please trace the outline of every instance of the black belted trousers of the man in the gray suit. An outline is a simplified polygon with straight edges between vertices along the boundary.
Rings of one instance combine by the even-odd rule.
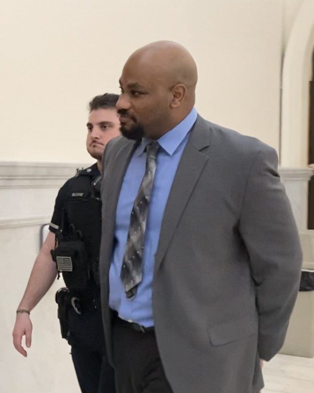
[[[112,333],[117,393],[172,393],[154,331],[138,332],[114,317]]]

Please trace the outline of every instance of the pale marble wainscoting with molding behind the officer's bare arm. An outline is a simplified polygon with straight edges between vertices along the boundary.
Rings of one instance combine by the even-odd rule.
[[[83,165],[0,162],[0,379],[2,392],[77,393],[80,389],[61,339],[56,281],[31,312],[33,335],[28,357],[13,347],[15,310],[40,247],[40,228],[49,223],[62,184]],[[85,167],[88,165],[85,165]]]

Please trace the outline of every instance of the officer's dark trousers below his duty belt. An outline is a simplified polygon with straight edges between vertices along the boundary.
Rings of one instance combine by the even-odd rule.
[[[78,315],[69,309],[71,356],[82,393],[115,393],[114,373],[105,356],[100,311]]]

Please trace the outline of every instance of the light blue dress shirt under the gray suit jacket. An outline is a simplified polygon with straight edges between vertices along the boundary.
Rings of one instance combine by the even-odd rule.
[[[126,297],[120,272],[128,237],[131,211],[145,174],[145,147],[149,142],[145,138],[133,153],[117,203],[114,247],[109,271],[109,306],[119,312],[120,318],[145,327],[154,324],[152,316],[154,255],[158,247],[164,211],[182,152],[189,138],[189,131],[196,119],[197,111],[193,108],[181,123],[158,140],[161,147],[157,155],[156,172],[146,222],[143,277],[136,296],[131,299]]]

